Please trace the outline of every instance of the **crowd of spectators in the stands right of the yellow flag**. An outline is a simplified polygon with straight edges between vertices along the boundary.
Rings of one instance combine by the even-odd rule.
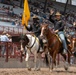
[[[65,14],[64,11],[52,8],[52,3],[48,3],[46,6],[46,12],[44,13],[44,4],[40,2],[30,2],[30,10],[32,13],[49,21],[50,10],[54,11],[54,14],[59,11],[62,14],[62,20],[65,22],[66,31],[70,33],[76,33],[76,12],[68,10]],[[72,33],[70,33],[72,35]]]

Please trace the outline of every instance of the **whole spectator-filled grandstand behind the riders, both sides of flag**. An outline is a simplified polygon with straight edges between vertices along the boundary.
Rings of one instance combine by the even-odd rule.
[[[4,2],[3,2],[4,1]],[[21,16],[23,13],[23,0],[0,0],[0,34],[3,30],[7,31],[11,35],[18,35],[19,33],[26,32],[23,31],[23,26],[21,25]],[[55,11],[60,11],[64,16],[64,10],[66,6],[67,0],[28,0],[29,7],[31,11],[31,17],[36,14],[40,20],[47,20],[49,22],[49,11],[50,9],[54,9]],[[67,22],[67,27],[71,27],[73,25],[73,21],[76,20],[76,5],[73,4],[75,0],[69,0],[68,5],[66,7],[66,15],[74,15],[70,16],[71,21]],[[12,4],[13,3],[13,4]],[[7,8],[9,10],[7,10]],[[45,9],[46,8],[46,9]],[[37,11],[36,11],[37,9]],[[13,16],[12,16],[13,15]],[[75,18],[74,18],[75,17]],[[69,17],[68,17],[69,18]],[[43,21],[43,22],[44,22]],[[67,20],[66,20],[67,21]],[[17,24],[16,24],[17,23]],[[32,19],[30,19],[29,24],[32,24]],[[50,24],[49,24],[50,25]],[[52,25],[51,25],[52,26]],[[14,32],[14,34],[12,34]]]

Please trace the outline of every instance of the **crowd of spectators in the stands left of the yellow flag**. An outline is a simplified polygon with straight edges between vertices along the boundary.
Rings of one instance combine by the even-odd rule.
[[[0,21],[11,22],[12,25],[21,25],[22,13],[15,14],[13,7],[3,5],[0,7]]]

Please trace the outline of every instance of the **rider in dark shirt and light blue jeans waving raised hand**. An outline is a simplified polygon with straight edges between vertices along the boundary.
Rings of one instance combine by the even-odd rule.
[[[61,20],[60,12],[56,12],[55,18],[52,17],[53,14],[54,14],[54,11],[51,10],[49,20],[54,24],[55,33],[58,33],[60,39],[62,40],[63,48],[64,48],[63,54],[66,54],[67,44],[66,44],[65,35],[64,35],[64,22]]]

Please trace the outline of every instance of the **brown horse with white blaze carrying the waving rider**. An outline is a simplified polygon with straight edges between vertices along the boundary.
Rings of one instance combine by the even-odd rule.
[[[53,33],[51,28],[47,24],[41,25],[41,38],[45,37],[47,39],[48,44],[48,52],[52,57],[52,70],[53,70],[53,63],[56,65],[56,55],[61,54],[63,58],[66,60],[66,55],[63,54],[63,46],[62,42],[58,38],[58,36]],[[69,52],[68,52],[69,53]],[[69,55],[70,56],[70,55]],[[70,62],[70,57],[68,58],[68,62]],[[50,65],[49,65],[50,66]],[[68,66],[65,66],[68,69]]]

